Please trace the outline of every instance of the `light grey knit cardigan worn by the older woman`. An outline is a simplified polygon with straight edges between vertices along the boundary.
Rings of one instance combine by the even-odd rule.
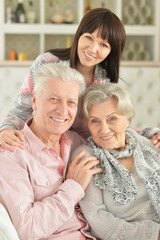
[[[137,134],[138,135],[138,134]],[[138,135],[139,138],[143,138]],[[143,141],[148,143],[146,138]],[[74,151],[73,157],[81,150],[86,155],[93,155],[88,145],[82,145]],[[101,190],[94,184],[94,177],[86,190],[85,197],[80,201],[82,212],[88,221],[91,233],[97,239],[112,240],[157,240],[160,224],[153,219],[154,208],[146,191],[145,184],[133,166],[132,176],[138,186],[138,196],[126,205],[116,205],[107,190]]]

